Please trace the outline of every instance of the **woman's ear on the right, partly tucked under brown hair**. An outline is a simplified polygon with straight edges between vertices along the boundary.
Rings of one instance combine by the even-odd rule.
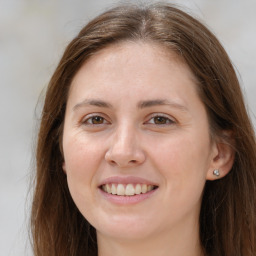
[[[213,143],[213,154],[211,159],[210,168],[207,172],[207,180],[221,179],[226,176],[231,170],[234,159],[235,151],[232,145],[232,133],[223,132],[222,138],[218,138]],[[219,176],[214,174],[214,170],[219,170]]]

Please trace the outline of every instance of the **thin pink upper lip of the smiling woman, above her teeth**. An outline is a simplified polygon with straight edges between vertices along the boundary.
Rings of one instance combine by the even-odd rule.
[[[104,179],[100,184],[99,187],[105,184],[146,184],[146,185],[153,185],[158,186],[156,182],[150,181],[148,179],[144,179],[142,177],[136,176],[112,176]]]

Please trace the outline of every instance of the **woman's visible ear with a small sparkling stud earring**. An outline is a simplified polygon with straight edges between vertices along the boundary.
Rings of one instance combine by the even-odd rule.
[[[207,173],[207,180],[216,180],[225,177],[232,169],[235,151],[231,144],[219,142],[215,144],[215,153]]]

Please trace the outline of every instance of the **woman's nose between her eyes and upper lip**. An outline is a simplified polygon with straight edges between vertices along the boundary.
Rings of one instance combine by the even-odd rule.
[[[133,167],[142,164],[145,158],[135,128],[124,125],[114,132],[105,154],[109,164],[120,168]]]

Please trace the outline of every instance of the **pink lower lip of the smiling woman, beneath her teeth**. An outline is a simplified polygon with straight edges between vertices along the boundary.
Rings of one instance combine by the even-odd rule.
[[[129,205],[129,204],[137,204],[140,203],[149,197],[153,196],[158,188],[153,189],[145,194],[139,194],[139,195],[134,195],[134,196],[118,196],[118,195],[113,195],[109,194],[102,189],[99,188],[99,191],[101,195],[108,201],[114,204],[119,204],[119,205]]]

